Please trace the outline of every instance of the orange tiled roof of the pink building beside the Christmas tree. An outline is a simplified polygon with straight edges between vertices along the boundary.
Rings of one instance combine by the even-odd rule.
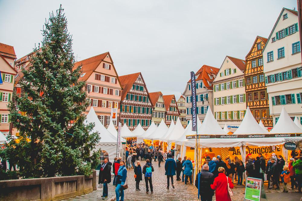
[[[82,61],[78,61],[74,64],[73,69],[76,69],[79,65],[82,64],[82,73],[86,73],[83,77],[80,78],[80,80],[87,80],[93,71],[98,67],[98,65],[101,63],[101,61],[108,55],[109,52],[105,52],[103,54],[84,59]]]

